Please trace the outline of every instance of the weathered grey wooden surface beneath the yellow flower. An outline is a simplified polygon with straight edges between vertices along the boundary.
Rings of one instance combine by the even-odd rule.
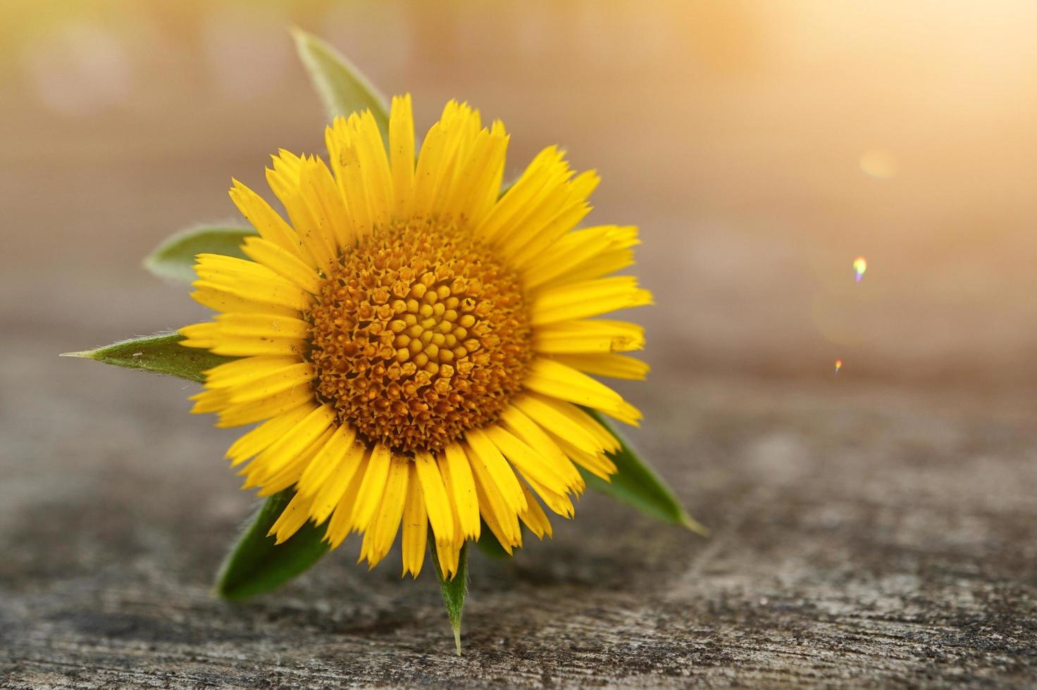
[[[355,539],[279,593],[214,600],[249,497],[219,459],[229,436],[185,413],[187,386],[2,364],[4,687],[1034,679],[1021,398],[849,377],[644,386],[637,439],[712,538],[587,496],[513,563],[474,556],[458,659],[431,573],[400,581],[398,555],[367,572]]]

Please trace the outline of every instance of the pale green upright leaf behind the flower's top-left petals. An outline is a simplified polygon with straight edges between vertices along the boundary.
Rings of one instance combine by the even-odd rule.
[[[388,145],[389,107],[385,96],[360,69],[327,42],[302,29],[292,29],[291,34],[328,117],[334,119],[339,115],[348,116],[349,113],[369,110]]]

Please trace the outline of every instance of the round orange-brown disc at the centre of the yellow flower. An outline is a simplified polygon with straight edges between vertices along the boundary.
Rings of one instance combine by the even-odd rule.
[[[306,316],[318,397],[398,451],[440,450],[496,421],[532,360],[516,277],[442,219],[343,251]]]

